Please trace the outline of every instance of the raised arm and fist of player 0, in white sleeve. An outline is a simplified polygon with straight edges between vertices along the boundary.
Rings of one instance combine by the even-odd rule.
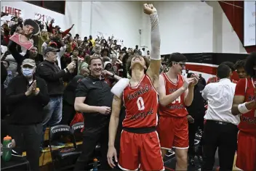
[[[154,86],[157,86],[161,67],[159,17],[156,8],[152,4],[144,4],[144,13],[149,14],[151,19],[151,63],[147,75],[153,81]]]

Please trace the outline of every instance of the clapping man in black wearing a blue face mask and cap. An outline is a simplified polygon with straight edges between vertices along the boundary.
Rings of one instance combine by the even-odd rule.
[[[23,60],[23,75],[13,78],[6,92],[10,114],[9,128],[17,143],[15,151],[27,152],[31,170],[39,170],[43,107],[49,102],[47,84],[34,75],[35,70],[36,63],[33,59]]]

